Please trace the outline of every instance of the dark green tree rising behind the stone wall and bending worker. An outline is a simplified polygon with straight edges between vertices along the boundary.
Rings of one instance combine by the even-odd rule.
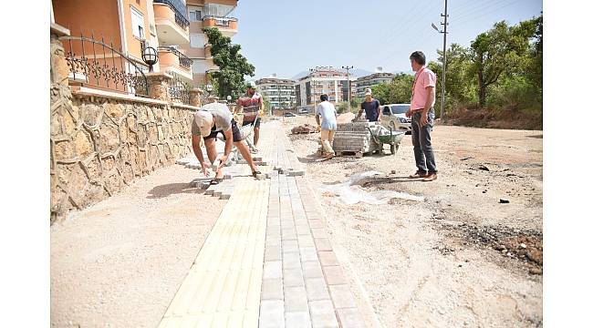
[[[240,54],[241,46],[231,44],[231,38],[224,36],[218,28],[206,27],[203,32],[212,46],[213,62],[219,67],[218,71],[211,73],[216,81],[218,97],[240,97],[244,92],[244,76],[253,77],[255,67]]]

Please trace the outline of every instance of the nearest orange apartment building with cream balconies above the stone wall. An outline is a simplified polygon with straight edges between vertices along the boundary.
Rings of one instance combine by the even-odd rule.
[[[109,87],[109,79],[112,84],[118,79],[116,71],[127,74],[149,71],[141,59],[145,46],[158,51],[155,72],[167,72],[180,81],[192,82],[192,60],[178,50],[190,42],[183,0],[51,0],[51,5],[56,24],[67,27],[71,36],[88,38],[63,42],[66,51],[77,58],[86,57],[95,67],[99,64],[104,70],[108,67],[113,70],[113,74],[100,77],[109,89],[127,90],[123,85]],[[132,65],[119,53],[130,58]],[[83,70],[95,67],[89,65]],[[85,82],[90,86],[93,82],[101,85],[101,80],[91,73],[83,75]],[[78,77],[71,79],[76,82]]]

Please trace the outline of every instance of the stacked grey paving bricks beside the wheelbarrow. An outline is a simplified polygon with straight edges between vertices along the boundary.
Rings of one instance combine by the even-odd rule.
[[[349,123],[338,123],[338,129],[334,135],[333,149],[336,155],[349,155],[354,153],[357,159],[364,154],[380,150],[379,144],[375,142],[369,132],[377,128],[377,122],[357,121]]]

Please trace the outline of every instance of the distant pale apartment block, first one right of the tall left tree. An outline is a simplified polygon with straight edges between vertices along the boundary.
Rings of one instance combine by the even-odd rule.
[[[296,81],[285,78],[267,77],[255,81],[260,94],[267,97],[270,109],[293,108],[296,106]]]

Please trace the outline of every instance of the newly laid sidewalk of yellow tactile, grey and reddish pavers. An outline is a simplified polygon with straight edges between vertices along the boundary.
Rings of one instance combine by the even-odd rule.
[[[159,327],[365,326],[291,148],[279,122],[262,126],[268,179],[233,178]]]

